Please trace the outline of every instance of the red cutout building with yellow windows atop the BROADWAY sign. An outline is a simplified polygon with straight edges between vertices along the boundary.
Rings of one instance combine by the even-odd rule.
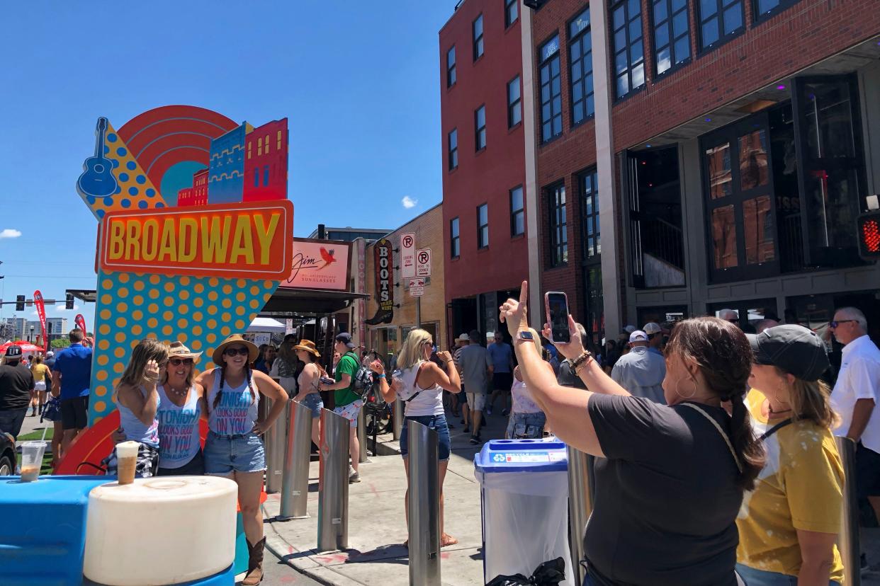
[[[287,198],[287,119],[254,128],[245,138],[244,201]]]

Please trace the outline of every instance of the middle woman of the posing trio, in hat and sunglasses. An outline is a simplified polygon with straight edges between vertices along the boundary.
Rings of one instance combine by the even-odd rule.
[[[205,389],[194,382],[194,363],[202,352],[182,342],[168,350],[165,376],[158,386],[159,476],[205,474],[199,423],[205,414]]]

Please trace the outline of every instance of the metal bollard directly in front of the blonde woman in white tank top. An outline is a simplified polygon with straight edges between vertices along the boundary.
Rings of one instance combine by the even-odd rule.
[[[437,432],[409,428],[409,584],[440,586],[440,477]]]

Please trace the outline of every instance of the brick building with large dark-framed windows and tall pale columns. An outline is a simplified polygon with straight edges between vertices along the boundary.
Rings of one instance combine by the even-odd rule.
[[[540,4],[522,25],[542,292],[596,341],[722,307],[880,322],[854,230],[880,192],[874,0]]]

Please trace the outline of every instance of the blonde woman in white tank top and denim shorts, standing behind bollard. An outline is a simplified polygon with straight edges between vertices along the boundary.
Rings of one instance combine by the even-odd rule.
[[[458,543],[451,535],[444,532],[444,498],[443,482],[446,478],[446,467],[449,466],[451,445],[449,428],[446,426],[446,416],[443,407],[443,392],[453,394],[461,392],[461,380],[458,379],[458,370],[452,362],[452,356],[448,351],[437,352],[437,358],[444,364],[444,368],[429,360],[434,346],[429,332],[424,329],[413,329],[407,334],[407,339],[397,355],[397,367],[394,371],[394,380],[389,385],[385,379],[385,365],[379,360],[370,364],[370,369],[377,374],[379,390],[386,402],[392,403],[396,397],[406,403],[404,412],[407,421],[415,421],[435,430],[439,436],[439,466],[438,476],[440,484],[440,546],[452,546]],[[407,472],[407,486],[409,481],[408,459],[408,423],[404,421],[400,430],[400,455],[403,456],[403,467]],[[409,490],[404,496],[404,510],[407,511],[407,523],[409,513]]]

